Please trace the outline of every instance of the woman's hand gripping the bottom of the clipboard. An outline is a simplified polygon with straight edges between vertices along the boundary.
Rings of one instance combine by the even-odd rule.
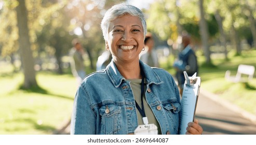
[[[198,124],[198,120],[190,122],[186,127],[186,135],[201,135],[203,133],[203,128]]]

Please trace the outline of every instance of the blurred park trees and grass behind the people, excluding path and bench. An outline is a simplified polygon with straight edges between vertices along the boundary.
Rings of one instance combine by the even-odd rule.
[[[254,0],[0,0],[0,134],[56,134],[69,123],[77,82],[71,42],[84,48],[86,74],[105,51],[100,22],[126,2],[145,13],[160,67],[174,76],[181,35],[192,37],[201,88],[256,114],[256,79],[225,80],[256,67]]]

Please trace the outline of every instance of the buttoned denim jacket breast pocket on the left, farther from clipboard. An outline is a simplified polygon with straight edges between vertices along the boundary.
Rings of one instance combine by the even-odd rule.
[[[117,134],[121,127],[121,106],[105,104],[100,107],[101,134]]]

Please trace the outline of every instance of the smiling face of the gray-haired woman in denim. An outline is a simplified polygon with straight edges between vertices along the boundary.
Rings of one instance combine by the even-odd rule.
[[[138,62],[143,47],[143,27],[139,17],[124,15],[110,23],[106,48],[110,49],[114,62]]]

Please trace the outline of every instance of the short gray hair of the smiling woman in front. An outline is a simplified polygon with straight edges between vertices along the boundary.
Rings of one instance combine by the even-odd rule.
[[[117,4],[112,6],[109,10],[106,11],[104,18],[101,21],[101,30],[103,33],[103,37],[105,41],[107,40],[107,35],[109,33],[109,24],[111,21],[115,20],[119,16],[124,15],[137,16],[141,20],[141,24],[143,26],[143,34],[144,38],[146,36],[146,20],[143,12],[134,6],[127,5],[125,3]]]

